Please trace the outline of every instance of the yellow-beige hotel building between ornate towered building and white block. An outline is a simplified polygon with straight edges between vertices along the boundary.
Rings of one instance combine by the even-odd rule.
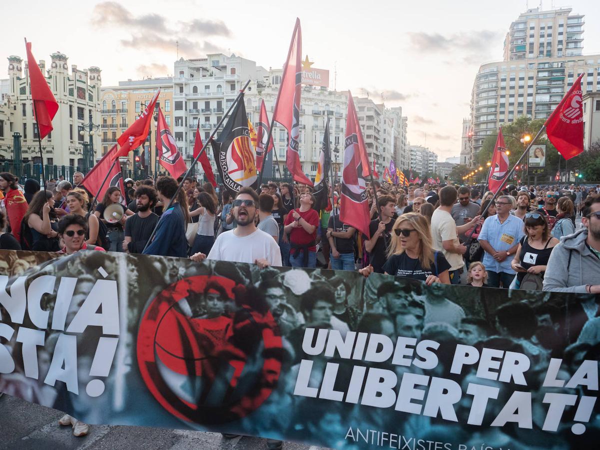
[[[100,97],[100,135],[101,154],[105,154],[127,128],[139,117],[154,94],[160,89],[157,105],[162,109],[164,118],[173,129],[173,78],[148,78],[143,80],[119,81],[117,86],[101,89]],[[140,153],[142,165],[149,165],[149,173],[156,168],[156,121],[150,122],[150,138]],[[148,147],[152,146],[148,151]],[[147,153],[146,153],[147,152]],[[121,158],[121,166],[134,169],[133,152]]]

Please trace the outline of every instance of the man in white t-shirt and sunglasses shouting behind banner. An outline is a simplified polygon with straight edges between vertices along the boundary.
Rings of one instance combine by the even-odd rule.
[[[221,233],[208,255],[197,253],[191,260],[205,259],[232,263],[258,264],[260,268],[281,266],[281,252],[277,242],[254,225],[259,213],[259,196],[250,187],[242,187],[233,201],[233,217],[238,226]]]

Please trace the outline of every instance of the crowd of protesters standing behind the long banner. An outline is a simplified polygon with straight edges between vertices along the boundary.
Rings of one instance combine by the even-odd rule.
[[[0,247],[71,252],[61,221],[74,215],[85,222],[81,249],[358,269],[427,284],[485,278],[488,287],[600,291],[598,186],[507,186],[494,197],[482,186],[374,181],[367,189],[371,223],[365,236],[340,220],[340,184],[329,187],[327,206],[317,210],[304,184],[269,181],[259,192],[244,189],[234,197],[222,185],[215,189],[193,177],[128,178],[125,198],[110,187],[96,203],[77,185],[82,176],[74,175],[74,186],[51,180],[40,190],[35,180],[21,187],[13,175],[0,174],[0,224],[10,231],[0,235]],[[15,199],[20,220],[7,214]],[[118,220],[107,220],[104,211],[114,204],[122,205]]]

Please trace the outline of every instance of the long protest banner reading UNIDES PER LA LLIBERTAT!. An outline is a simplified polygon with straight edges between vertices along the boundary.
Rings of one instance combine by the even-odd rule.
[[[0,391],[90,424],[338,449],[593,448],[593,295],[0,252]]]

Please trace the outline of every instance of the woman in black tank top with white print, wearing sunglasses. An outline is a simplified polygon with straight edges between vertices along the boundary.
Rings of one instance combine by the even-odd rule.
[[[544,278],[550,254],[557,243],[559,240],[550,235],[544,214],[538,212],[525,214],[525,236],[519,241],[511,263],[512,270],[517,272],[515,285],[517,289],[526,273]]]

